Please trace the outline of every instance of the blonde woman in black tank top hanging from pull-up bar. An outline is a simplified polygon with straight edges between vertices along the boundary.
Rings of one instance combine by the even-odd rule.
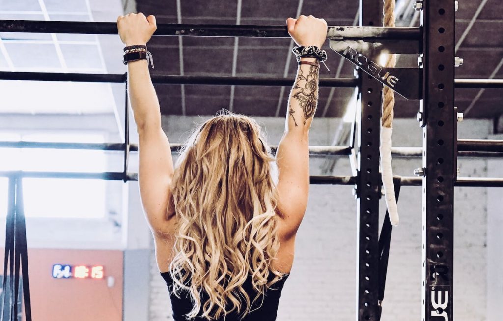
[[[299,66],[276,158],[255,120],[221,112],[195,128],[176,166],[148,70],[155,17],[129,14],[117,24],[138,128],[140,195],[174,319],[275,320],[306,210],[326,22],[287,19]]]

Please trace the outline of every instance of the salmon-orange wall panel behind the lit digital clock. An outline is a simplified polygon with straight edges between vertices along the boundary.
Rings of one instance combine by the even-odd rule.
[[[4,255],[1,250],[0,257]],[[39,321],[121,321],[122,251],[29,249],[32,315]],[[54,264],[103,266],[103,279],[54,279]],[[73,272],[73,271],[72,271]],[[115,279],[107,285],[107,278]]]

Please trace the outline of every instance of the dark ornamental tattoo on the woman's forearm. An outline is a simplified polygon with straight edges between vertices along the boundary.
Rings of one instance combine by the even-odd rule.
[[[300,81],[305,81],[304,87],[300,87]],[[318,104],[318,68],[315,66],[311,66],[309,68],[309,74],[304,76],[302,72],[302,68],[299,68],[299,74],[297,75],[297,80],[293,86],[292,90],[300,89],[297,91],[292,98],[295,98],[300,108],[304,111],[304,125],[306,124],[306,120],[314,116],[316,112],[316,106]],[[290,104],[289,115],[292,116],[293,122],[295,123],[295,127],[297,127],[297,121],[295,120],[295,116],[293,115],[295,110],[292,108]]]

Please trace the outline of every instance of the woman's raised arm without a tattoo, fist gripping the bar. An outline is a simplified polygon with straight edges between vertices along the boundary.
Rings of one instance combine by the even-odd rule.
[[[146,45],[155,32],[154,16],[129,14],[117,19],[122,42],[126,46]],[[161,127],[159,101],[150,79],[148,62],[128,62],[129,100],[138,131],[138,183],[143,209],[154,236],[172,231],[168,204],[173,178],[170,142]]]

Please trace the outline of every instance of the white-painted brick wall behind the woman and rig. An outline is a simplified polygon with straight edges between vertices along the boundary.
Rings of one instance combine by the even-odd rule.
[[[283,131],[282,119],[260,118],[269,142],[276,144]],[[189,129],[193,118],[164,118],[163,127],[173,142]],[[311,130],[311,144],[326,145],[339,120],[317,119]],[[414,129],[416,128],[416,129]],[[484,138],[487,121],[465,121],[460,136]],[[412,131],[412,132],[411,132]],[[462,131],[462,133],[461,133]],[[404,134],[406,133],[406,134]],[[396,146],[421,146],[421,130],[411,120],[397,120]],[[319,174],[319,159],[312,159],[311,173]],[[396,159],[395,173],[411,176],[420,159]],[[462,159],[461,176],[484,177],[487,162]],[[335,175],[350,173],[347,159],[338,162]],[[455,293],[457,321],[485,320],[486,282],[486,188],[456,188],[455,197]],[[381,202],[384,213],[384,202]],[[398,209],[400,225],[393,229],[383,320],[408,321],[421,318],[421,188],[403,187]],[[150,320],[171,319],[165,283],[157,272],[152,254]],[[278,321],[355,319],[356,202],[348,186],[312,185],[308,209],[299,229],[291,276],[285,284]]]

